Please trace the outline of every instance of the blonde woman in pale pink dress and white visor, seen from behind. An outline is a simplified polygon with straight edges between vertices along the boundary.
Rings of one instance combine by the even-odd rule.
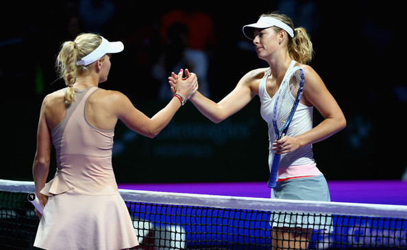
[[[45,97],[38,123],[33,176],[45,209],[43,214],[36,210],[36,247],[113,250],[138,245],[112,168],[114,126],[120,119],[137,133],[155,137],[196,92],[197,79],[182,81],[169,104],[149,118],[121,92],[98,87],[108,79],[112,53],[123,48],[123,43],[93,33],[62,44],[57,65],[68,87]],[[57,171],[46,184],[51,145]]]

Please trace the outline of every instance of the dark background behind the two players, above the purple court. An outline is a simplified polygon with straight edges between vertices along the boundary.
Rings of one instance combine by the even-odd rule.
[[[158,93],[171,70],[160,74],[155,66],[164,55],[179,59],[175,55],[181,55],[177,52],[185,42],[178,36],[169,45],[159,36],[165,26],[161,18],[173,10],[188,13],[188,22],[199,13],[212,22],[213,37],[204,51],[210,61],[208,80],[214,101],[232,91],[249,70],[267,66],[243,36],[243,25],[256,22],[264,12],[279,11],[288,14],[295,27],[306,27],[315,50],[310,65],[347,118],[345,130],[314,144],[317,166],[328,180],[403,178],[405,25],[401,25],[402,7],[392,1],[373,5],[371,1],[127,0],[112,1],[106,10],[101,8],[104,1],[93,1],[99,7],[83,11],[85,2],[15,1],[3,8],[0,178],[32,180],[40,104],[46,94],[64,87],[55,74],[55,58],[62,42],[78,33],[93,31],[125,44],[123,53],[111,59],[108,81],[99,87],[123,92],[150,117],[162,109],[171,96],[159,98]],[[315,110],[314,123],[320,121]],[[117,182],[266,182],[267,158],[267,124],[260,117],[257,97],[220,124],[213,124],[187,102],[154,139],[137,135],[121,122],[115,130]],[[55,168],[53,159],[49,178]]]

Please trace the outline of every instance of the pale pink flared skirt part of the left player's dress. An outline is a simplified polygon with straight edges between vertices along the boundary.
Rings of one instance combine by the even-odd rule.
[[[127,249],[138,245],[125,202],[117,195],[50,196],[35,247],[42,249]]]

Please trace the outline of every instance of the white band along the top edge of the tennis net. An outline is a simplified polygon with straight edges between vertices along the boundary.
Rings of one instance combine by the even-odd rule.
[[[1,180],[0,191],[34,191],[34,182]],[[407,206],[387,204],[362,204],[347,202],[312,202],[281,200],[257,197],[235,197],[224,195],[200,195],[191,193],[169,193],[119,189],[121,197],[128,202],[169,204],[183,206],[207,206],[274,212],[308,212],[314,214],[339,214],[364,217],[389,217],[407,219]]]

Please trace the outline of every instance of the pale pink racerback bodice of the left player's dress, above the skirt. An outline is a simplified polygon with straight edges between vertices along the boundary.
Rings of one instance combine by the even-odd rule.
[[[98,89],[75,89],[75,98],[67,105],[64,119],[51,130],[57,171],[42,189],[44,195],[69,190],[82,195],[119,193],[112,168],[114,130],[96,128],[86,118],[88,98]]]

